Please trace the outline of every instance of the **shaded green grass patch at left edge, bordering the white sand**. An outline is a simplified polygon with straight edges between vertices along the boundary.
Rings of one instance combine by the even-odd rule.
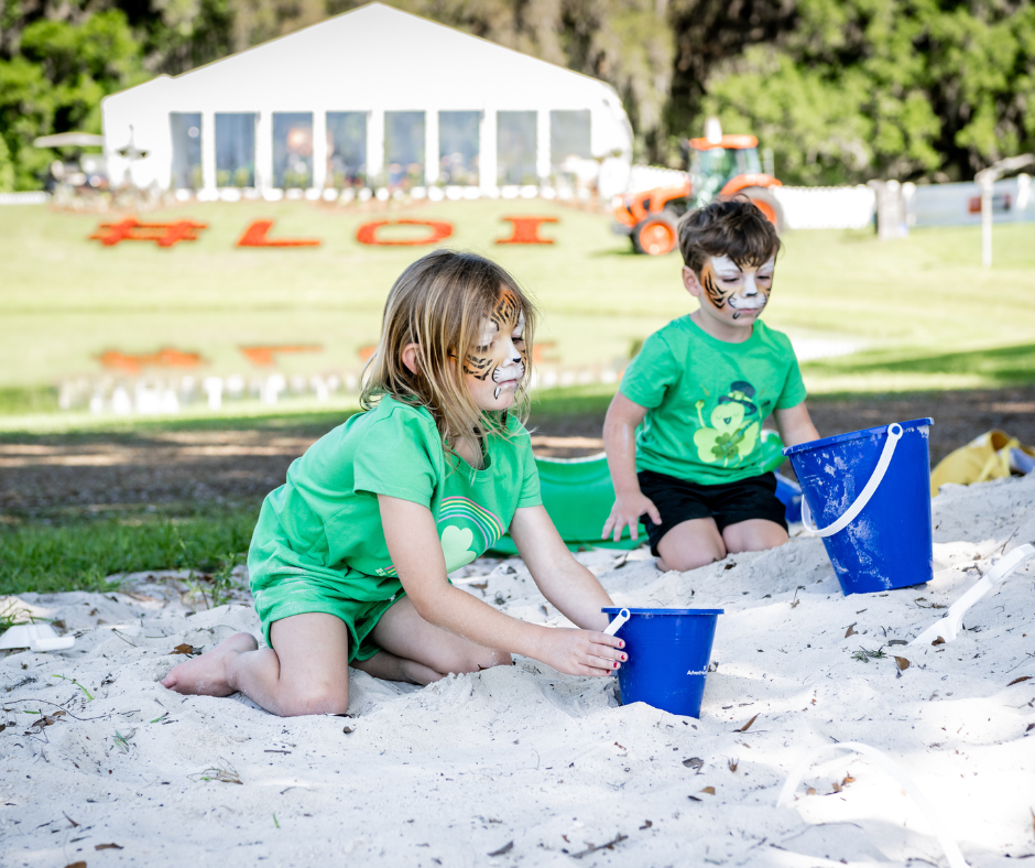
[[[144,569],[211,572],[248,550],[258,509],[189,518],[0,525],[0,595],[109,590],[106,576]]]

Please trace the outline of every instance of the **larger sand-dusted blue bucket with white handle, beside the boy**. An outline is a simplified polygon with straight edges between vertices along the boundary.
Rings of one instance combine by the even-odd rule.
[[[845,594],[930,581],[933,422],[895,422],[784,449],[805,495],[802,523],[822,538]]]

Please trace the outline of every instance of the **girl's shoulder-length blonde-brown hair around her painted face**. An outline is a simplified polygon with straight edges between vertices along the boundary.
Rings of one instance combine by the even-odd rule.
[[[514,405],[489,413],[471,398],[464,381],[462,362],[482,333],[501,293],[512,292],[525,317],[524,340],[529,365],[518,383]],[[426,406],[435,419],[443,445],[464,435],[494,433],[509,436],[506,416],[524,422],[529,415],[535,307],[504,269],[477,253],[436,250],[410,265],[395,281],[384,304],[381,340],[367,362],[360,404],[370,410],[384,395],[414,406]],[[403,364],[403,349],[417,345],[416,372]]]

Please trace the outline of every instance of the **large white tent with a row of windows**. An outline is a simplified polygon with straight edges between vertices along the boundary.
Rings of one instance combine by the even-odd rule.
[[[113,184],[208,195],[435,184],[495,195],[604,158],[601,186],[621,188],[632,151],[609,85],[381,3],[102,108]]]

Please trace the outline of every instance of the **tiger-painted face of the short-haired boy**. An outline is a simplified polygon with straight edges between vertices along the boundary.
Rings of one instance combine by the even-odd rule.
[[[775,258],[753,267],[738,265],[729,257],[709,257],[699,278],[684,268],[687,291],[700,300],[700,311],[691,316],[706,330],[717,329],[712,332],[717,337],[727,329],[734,334],[744,327],[750,336],[752,324],[769,303],[775,268]]]

